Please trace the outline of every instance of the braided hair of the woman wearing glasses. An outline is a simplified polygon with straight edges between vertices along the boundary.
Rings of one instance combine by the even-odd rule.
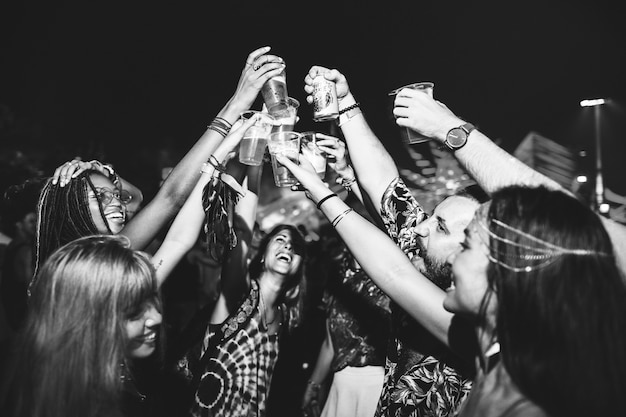
[[[85,236],[101,234],[89,210],[89,190],[96,193],[90,176],[102,175],[99,171],[85,170],[61,187],[48,179],[37,203],[37,232],[35,236],[35,273],[50,255],[61,246]],[[98,205],[104,219],[104,209]],[[113,234],[105,221],[107,231]],[[32,285],[32,282],[31,282]]]

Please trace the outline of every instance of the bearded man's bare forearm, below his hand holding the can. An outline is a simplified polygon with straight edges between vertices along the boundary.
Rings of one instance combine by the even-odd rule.
[[[341,103],[345,108],[356,103],[348,94]],[[365,191],[375,208],[380,209],[380,198],[392,179],[399,175],[395,161],[374,134],[363,113],[341,124],[352,166],[356,171],[359,185]]]

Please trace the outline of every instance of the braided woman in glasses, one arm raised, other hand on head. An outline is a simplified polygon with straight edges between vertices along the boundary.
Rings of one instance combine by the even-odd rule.
[[[282,58],[268,54],[270,49],[258,48],[248,55],[234,95],[174,168],[154,199],[132,219],[128,219],[127,204],[138,205],[140,199],[135,198],[135,202],[129,199],[128,184],[119,180],[110,167],[77,159],[59,167],[45,184],[38,203],[34,279],[39,265],[55,249],[83,236],[122,234],[129,238],[133,249],[145,249],[180,211],[200,180],[202,164],[229,133],[240,113],[254,103],[265,81],[284,69]],[[255,62],[263,64],[254,66]]]

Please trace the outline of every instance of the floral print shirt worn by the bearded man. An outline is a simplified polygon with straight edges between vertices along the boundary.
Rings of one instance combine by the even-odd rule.
[[[400,178],[385,191],[381,217],[389,236],[411,259],[417,256],[417,225],[426,218]],[[472,365],[391,303],[391,338],[385,383],[376,417],[455,415],[472,386]]]

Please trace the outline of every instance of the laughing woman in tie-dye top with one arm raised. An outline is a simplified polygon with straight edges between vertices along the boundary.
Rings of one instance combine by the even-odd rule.
[[[279,224],[252,248],[257,201],[248,189],[237,203],[237,243],[225,252],[217,301],[200,323],[201,342],[176,365],[190,383],[194,416],[264,416],[281,335],[301,321],[304,238]]]

